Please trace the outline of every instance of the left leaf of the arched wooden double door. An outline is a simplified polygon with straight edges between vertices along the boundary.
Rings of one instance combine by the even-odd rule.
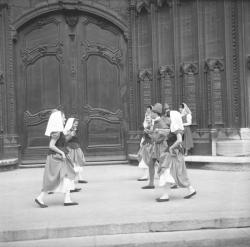
[[[38,18],[19,33],[16,47],[17,117],[23,158],[46,157],[44,136],[51,110],[62,104],[65,77],[64,22],[60,15]]]

